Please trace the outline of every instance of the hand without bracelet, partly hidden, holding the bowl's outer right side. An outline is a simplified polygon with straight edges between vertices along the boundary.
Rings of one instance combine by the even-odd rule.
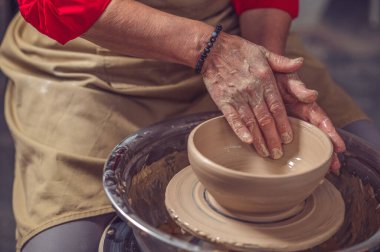
[[[346,146],[336,132],[331,120],[316,103],[318,97],[317,91],[307,89],[297,73],[275,73],[275,77],[289,115],[310,122],[330,137],[334,145],[330,169],[337,173],[340,168],[337,153],[345,151]]]

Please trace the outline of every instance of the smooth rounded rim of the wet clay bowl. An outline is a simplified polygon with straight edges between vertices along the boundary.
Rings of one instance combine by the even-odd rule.
[[[204,122],[202,122],[201,124],[199,124],[198,126],[196,126],[191,132],[190,132],[190,135],[189,135],[189,138],[188,138],[188,141],[187,141],[187,144],[188,144],[188,152],[190,150],[193,151],[193,153],[195,153],[195,155],[198,155],[198,157],[200,157],[198,160],[201,160],[201,163],[203,164],[206,164],[208,165],[211,169],[214,169],[215,171],[217,172],[225,172],[226,175],[233,175],[233,176],[237,176],[239,178],[252,178],[252,179],[255,179],[255,178],[259,178],[259,179],[277,179],[277,178],[295,178],[295,177],[298,177],[298,176],[303,176],[303,175],[306,175],[308,173],[312,173],[318,169],[321,169],[322,167],[326,166],[326,164],[328,162],[330,162],[332,160],[332,155],[333,155],[333,144],[330,140],[330,138],[321,130],[319,129],[318,127],[312,125],[311,123],[308,123],[308,122],[305,122],[301,119],[298,119],[298,118],[295,118],[295,117],[291,117],[289,116],[289,120],[290,121],[295,121],[297,123],[300,124],[301,127],[305,128],[308,130],[308,132],[316,135],[317,137],[320,137],[320,139],[323,141],[323,143],[326,143],[326,148],[328,149],[327,150],[327,158],[322,160],[320,163],[317,163],[316,165],[314,165],[311,169],[307,169],[303,172],[299,172],[299,173],[296,173],[296,174],[282,174],[282,175],[258,175],[258,174],[252,174],[252,173],[249,173],[249,172],[242,172],[242,171],[236,171],[236,170],[233,170],[233,169],[229,169],[223,165],[220,165],[220,164],[217,164],[216,162],[212,161],[211,159],[209,159],[208,157],[204,156],[196,147],[195,147],[195,144],[194,144],[194,135],[196,134],[197,130],[199,128],[201,128],[202,126],[204,126],[205,124],[211,122],[211,121],[214,121],[214,120],[220,120],[221,118],[224,118],[224,116],[217,116],[217,117],[214,117],[214,118],[211,118],[209,120],[206,120]],[[191,166],[191,164],[190,164]],[[326,169],[326,172],[328,171],[329,167]]]

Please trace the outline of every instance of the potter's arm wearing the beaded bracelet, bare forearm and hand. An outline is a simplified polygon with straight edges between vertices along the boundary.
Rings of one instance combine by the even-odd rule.
[[[127,55],[194,67],[213,30],[138,2],[112,0],[84,38]],[[280,158],[281,143],[290,142],[292,132],[273,72],[294,72],[302,59],[278,56],[226,33],[211,46],[202,68],[211,98],[242,141],[262,156]]]

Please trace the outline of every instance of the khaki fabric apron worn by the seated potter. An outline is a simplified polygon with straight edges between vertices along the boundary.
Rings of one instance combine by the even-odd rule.
[[[239,33],[229,0],[142,2]],[[287,52],[305,57],[300,75],[319,91],[336,126],[367,118],[293,35]],[[103,192],[103,164],[126,136],[170,117],[217,109],[193,69],[122,56],[81,38],[61,46],[20,15],[6,33],[0,66],[10,79],[5,116],[16,147],[18,250],[49,227],[114,211]]]

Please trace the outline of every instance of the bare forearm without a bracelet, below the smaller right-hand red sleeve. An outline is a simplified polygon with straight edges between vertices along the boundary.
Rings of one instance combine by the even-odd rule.
[[[279,9],[253,9],[240,15],[241,36],[283,55],[291,17]]]

